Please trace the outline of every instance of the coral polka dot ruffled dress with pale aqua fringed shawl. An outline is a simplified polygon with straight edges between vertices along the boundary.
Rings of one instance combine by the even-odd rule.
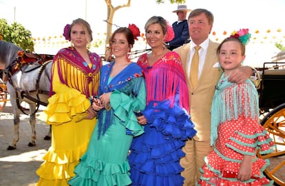
[[[220,84],[226,79],[221,81]],[[213,151],[204,158],[198,185],[273,185],[262,173],[269,161],[255,156],[258,149],[268,153],[274,146],[258,121],[259,113],[251,113],[257,110],[258,95],[251,81],[239,85],[227,82],[224,87],[216,87],[211,110],[215,114],[211,122]],[[237,173],[244,155],[253,157],[252,176],[240,182]]]

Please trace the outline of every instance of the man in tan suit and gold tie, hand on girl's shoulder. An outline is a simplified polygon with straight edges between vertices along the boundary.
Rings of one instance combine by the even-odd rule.
[[[180,164],[184,167],[182,176],[185,178],[184,186],[195,185],[200,178],[199,168],[204,165],[204,156],[211,152],[211,103],[215,92],[215,85],[218,83],[222,70],[218,68],[218,55],[216,49],[218,43],[209,39],[209,34],[213,28],[213,14],[209,10],[192,10],[188,17],[190,43],[176,48],[174,51],[180,54],[185,76],[189,87],[189,103],[191,120],[198,131],[196,136],[189,139],[183,148],[184,158]],[[199,45],[198,83],[193,85],[190,75],[193,73],[191,61],[195,53],[195,47]],[[191,73],[190,73],[191,71]],[[250,67],[244,66],[236,70],[229,81],[242,83],[249,76],[253,75]]]

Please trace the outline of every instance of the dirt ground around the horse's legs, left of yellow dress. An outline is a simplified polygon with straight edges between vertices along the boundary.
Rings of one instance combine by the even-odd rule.
[[[17,149],[7,150],[13,138],[14,124],[11,105],[8,102],[0,112],[0,185],[1,186],[33,186],[39,180],[36,169],[41,165],[42,157],[50,147],[50,141],[43,138],[49,130],[45,124],[43,108],[36,113],[36,146],[28,147],[32,133],[29,116],[21,114],[19,125],[19,141]]]

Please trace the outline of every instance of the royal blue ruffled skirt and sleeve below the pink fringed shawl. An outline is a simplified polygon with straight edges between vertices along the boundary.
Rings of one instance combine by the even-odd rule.
[[[196,134],[189,115],[170,102],[151,102],[143,111],[149,124],[134,138],[129,162],[132,185],[182,185],[180,158],[187,138]]]

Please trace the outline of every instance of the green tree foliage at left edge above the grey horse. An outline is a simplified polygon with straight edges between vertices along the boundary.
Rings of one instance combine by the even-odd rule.
[[[0,34],[4,41],[15,43],[23,48],[23,50],[34,52],[32,33],[30,30],[26,30],[23,25],[17,22],[9,25],[6,19],[0,19]]]

